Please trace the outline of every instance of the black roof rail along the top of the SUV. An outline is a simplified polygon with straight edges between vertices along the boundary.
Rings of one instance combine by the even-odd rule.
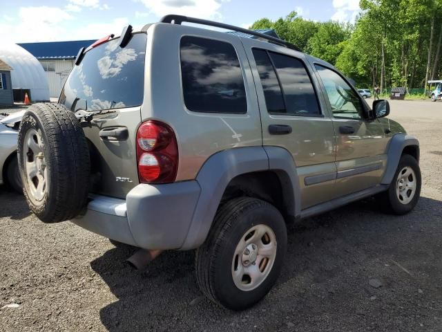
[[[182,22],[202,24],[203,26],[215,26],[216,28],[223,28],[227,30],[238,31],[240,33],[247,33],[247,35],[252,35],[259,37],[261,39],[265,39],[268,42],[278,44],[280,46],[285,46],[287,48],[291,48],[292,50],[299,50],[294,44],[286,42],[285,40],[272,37],[269,35],[265,35],[264,33],[258,33],[253,30],[240,28],[238,26],[231,26],[230,24],[219,23],[215,21],[209,21],[207,19],[195,19],[194,17],[186,17],[182,15],[166,15],[162,19],[160,19],[160,23],[170,23],[170,24],[182,24]]]

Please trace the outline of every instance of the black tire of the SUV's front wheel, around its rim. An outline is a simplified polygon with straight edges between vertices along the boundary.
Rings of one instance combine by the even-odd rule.
[[[412,200],[410,201],[410,203],[407,204],[401,203],[398,195],[396,194],[396,185],[398,183],[399,172],[401,172],[404,167],[411,167],[414,171],[414,174],[416,175],[416,190],[414,192]],[[392,180],[392,183],[390,184],[390,187],[386,192],[378,194],[376,198],[381,204],[381,208],[384,212],[398,215],[406,214],[413,210],[417,202],[419,201],[419,196],[421,196],[421,185],[422,179],[419,163],[413,156],[410,156],[410,154],[403,154],[403,156],[401,156],[401,159],[399,160],[399,165],[396,169],[396,173],[394,174],[394,178]]]

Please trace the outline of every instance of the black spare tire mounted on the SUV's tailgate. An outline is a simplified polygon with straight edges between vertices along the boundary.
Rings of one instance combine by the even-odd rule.
[[[26,133],[31,130],[36,132],[32,139],[37,140],[37,134],[41,137],[47,168],[48,185],[39,201],[30,191],[32,181],[28,181],[25,168],[25,158],[35,156],[31,149],[23,151]],[[74,113],[61,104],[32,105],[21,120],[18,145],[23,192],[30,210],[45,223],[70,220],[80,214],[88,199],[90,158],[84,131]]]

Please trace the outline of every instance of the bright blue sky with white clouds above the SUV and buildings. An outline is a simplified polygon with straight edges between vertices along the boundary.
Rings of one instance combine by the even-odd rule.
[[[359,0],[0,0],[0,41],[10,43],[99,39],[140,29],[166,14],[248,28],[296,10],[314,21],[354,21]]]

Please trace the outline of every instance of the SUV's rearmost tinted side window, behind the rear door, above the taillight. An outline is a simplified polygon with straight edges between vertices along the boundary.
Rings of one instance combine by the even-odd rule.
[[[195,112],[247,113],[244,80],[235,48],[200,37],[181,39],[184,103]]]

